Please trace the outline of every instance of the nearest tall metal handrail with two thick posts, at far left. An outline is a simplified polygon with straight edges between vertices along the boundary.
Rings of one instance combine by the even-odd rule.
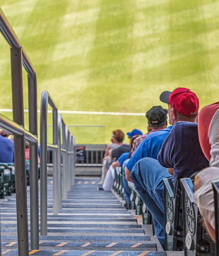
[[[28,75],[28,98],[29,98],[29,134],[26,132],[26,140],[30,140],[30,215],[31,215],[31,248],[39,249],[39,213],[38,213],[38,155],[37,143],[31,140],[31,135],[37,138],[37,81],[35,69],[24,49],[22,49],[17,36],[9,25],[6,17],[0,9],[0,31],[11,47],[11,73],[12,73],[12,107],[13,120],[24,127],[23,111],[23,79],[22,64]],[[10,129],[13,129],[12,127]],[[16,165],[16,194],[17,194],[17,236],[19,255],[29,255],[28,242],[28,218],[24,132],[22,135],[14,133],[14,160]],[[21,214],[22,213],[22,214]]]

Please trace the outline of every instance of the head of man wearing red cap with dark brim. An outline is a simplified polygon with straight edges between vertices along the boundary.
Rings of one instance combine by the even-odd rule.
[[[160,95],[161,102],[168,104],[169,122],[196,122],[199,112],[199,98],[190,89],[176,88],[173,92],[164,91]]]

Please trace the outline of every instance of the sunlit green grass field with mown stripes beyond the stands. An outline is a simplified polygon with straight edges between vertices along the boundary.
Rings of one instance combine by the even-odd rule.
[[[201,107],[219,100],[218,0],[1,0],[0,6],[37,71],[38,109],[43,90],[70,111],[143,113],[161,105],[162,90],[179,86],[196,92]],[[0,37],[0,108],[12,108],[9,54]],[[25,73],[23,80],[27,108]],[[115,128],[147,127],[144,116],[63,117],[72,125],[106,125],[85,136],[77,131],[78,143],[108,142]]]

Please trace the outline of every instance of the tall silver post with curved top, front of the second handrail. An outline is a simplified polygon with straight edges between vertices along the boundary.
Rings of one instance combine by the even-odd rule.
[[[40,106],[40,234],[47,236],[47,109],[48,93],[43,92]]]

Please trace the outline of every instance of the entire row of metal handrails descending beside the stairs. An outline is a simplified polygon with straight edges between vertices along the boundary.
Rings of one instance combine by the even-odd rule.
[[[38,201],[38,139],[37,139],[37,79],[35,69],[22,49],[13,29],[0,9],[0,32],[11,51],[13,121],[0,114],[0,128],[14,134],[14,162],[17,208],[17,239],[19,256],[29,255],[28,214],[26,192],[25,140],[30,143],[30,229],[31,249],[39,249]],[[28,79],[29,131],[24,129],[22,65]],[[47,106],[53,108],[53,144],[47,144]],[[61,146],[61,128],[63,145]],[[61,200],[74,183],[75,140],[70,134],[52,97],[42,93],[40,109],[40,230],[47,235],[47,150],[53,150],[53,214],[61,209]],[[63,154],[63,175],[61,174]],[[63,177],[63,179],[62,179]],[[62,193],[63,181],[63,193]],[[67,184],[67,186],[66,186]]]

